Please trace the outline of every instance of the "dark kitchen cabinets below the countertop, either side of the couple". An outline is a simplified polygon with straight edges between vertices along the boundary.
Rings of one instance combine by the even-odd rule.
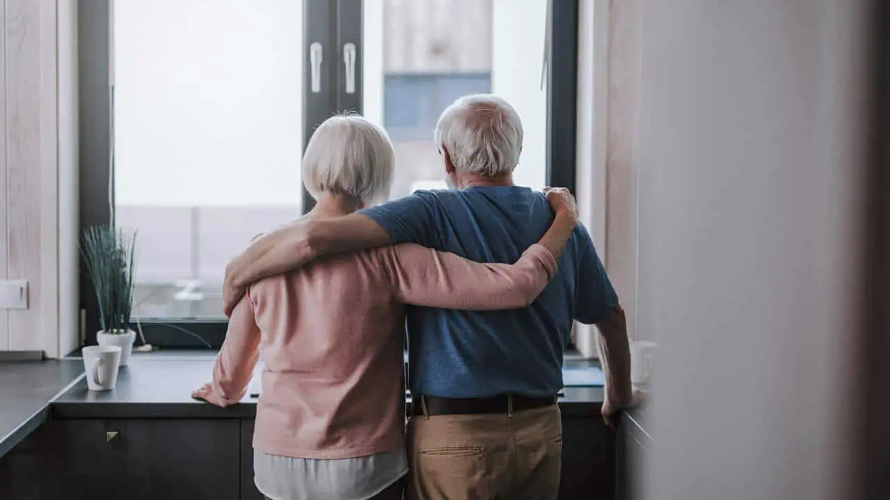
[[[560,500],[641,498],[630,430],[563,415]],[[253,419],[50,420],[0,457],[0,499],[262,500],[253,436]]]

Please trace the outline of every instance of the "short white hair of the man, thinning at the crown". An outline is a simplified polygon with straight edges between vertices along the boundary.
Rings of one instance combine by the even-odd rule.
[[[519,163],[522,120],[497,95],[468,95],[442,111],[435,140],[458,171],[495,177],[512,173]]]

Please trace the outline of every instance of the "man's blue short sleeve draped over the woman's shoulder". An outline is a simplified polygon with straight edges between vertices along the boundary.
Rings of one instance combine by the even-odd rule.
[[[432,198],[429,191],[416,191],[411,196],[360,210],[359,214],[379,224],[389,234],[393,245],[417,243],[433,246],[430,243]]]

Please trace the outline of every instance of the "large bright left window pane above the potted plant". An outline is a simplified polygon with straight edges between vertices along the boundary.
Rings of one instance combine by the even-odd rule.
[[[113,17],[114,190],[136,314],[222,317],[226,262],[300,214],[303,4],[125,0]]]

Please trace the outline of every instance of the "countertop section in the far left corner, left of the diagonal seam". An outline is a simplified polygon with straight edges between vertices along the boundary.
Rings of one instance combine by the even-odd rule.
[[[0,456],[44,423],[50,402],[83,373],[80,359],[0,363]]]

